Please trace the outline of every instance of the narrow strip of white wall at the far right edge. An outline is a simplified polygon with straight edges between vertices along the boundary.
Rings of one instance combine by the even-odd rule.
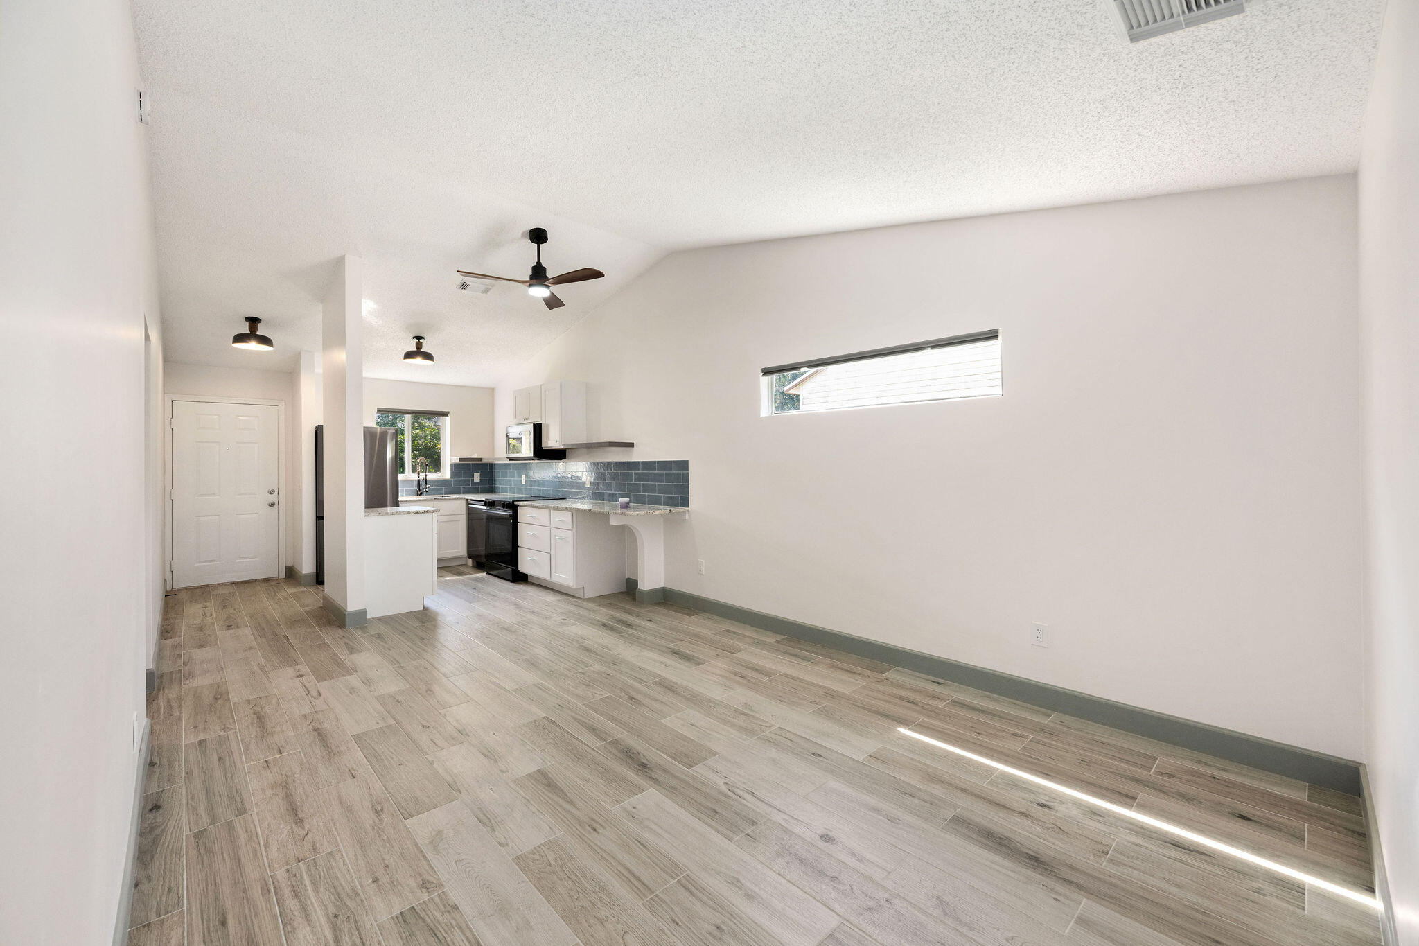
[[[1391,0],[1359,167],[1369,542],[1365,759],[1399,942],[1419,945],[1419,3]]]

